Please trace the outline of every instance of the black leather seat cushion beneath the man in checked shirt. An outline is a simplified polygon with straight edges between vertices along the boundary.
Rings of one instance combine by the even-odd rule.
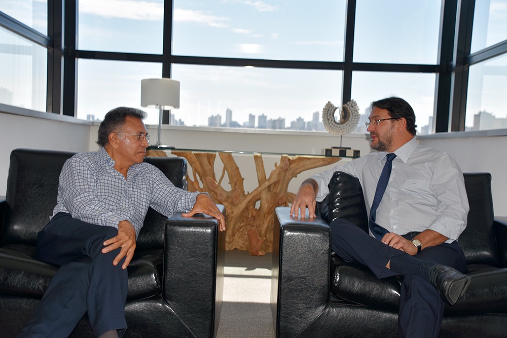
[[[160,294],[162,250],[143,251],[134,255],[128,267],[127,300]],[[58,266],[37,259],[35,247],[7,244],[0,248],[0,292],[17,296],[42,298]]]

